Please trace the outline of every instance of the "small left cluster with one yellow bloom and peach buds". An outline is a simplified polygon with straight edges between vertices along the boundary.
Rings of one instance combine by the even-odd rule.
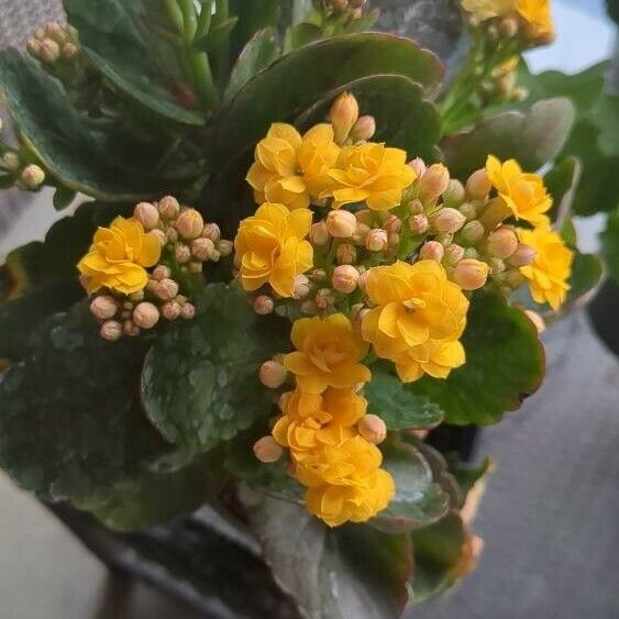
[[[191,278],[205,262],[231,252],[232,243],[220,239],[214,223],[205,223],[172,196],[140,202],[131,219],[118,217],[99,228],[77,267],[87,292],[95,295],[90,310],[101,336],[114,341],[153,329],[162,318],[194,318]]]

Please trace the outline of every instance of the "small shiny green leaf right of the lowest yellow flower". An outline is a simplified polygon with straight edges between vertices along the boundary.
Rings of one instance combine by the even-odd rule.
[[[423,444],[433,465],[417,446],[405,442],[384,443],[383,467],[396,482],[396,496],[371,524],[388,533],[419,529],[440,520],[447,510],[457,507],[461,497],[455,480],[446,472],[442,456]],[[438,467],[436,467],[438,465]],[[444,487],[441,485],[443,484]]]

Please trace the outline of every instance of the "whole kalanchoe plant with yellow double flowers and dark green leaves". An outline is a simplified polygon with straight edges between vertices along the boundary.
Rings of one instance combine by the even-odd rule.
[[[95,199],[2,269],[1,465],[123,530],[209,502],[307,617],[397,616],[473,568],[489,467],[432,430],[517,409],[539,312],[598,277],[575,165],[539,174],[571,103],[482,119],[545,9],[465,2],[441,90],[364,4],[66,0],[0,54],[0,183]]]

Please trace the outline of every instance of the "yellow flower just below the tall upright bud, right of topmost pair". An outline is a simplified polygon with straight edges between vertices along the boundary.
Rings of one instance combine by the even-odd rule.
[[[417,175],[406,165],[405,151],[367,142],[342,148],[329,177],[331,186],[321,196],[333,197],[333,208],[366,202],[369,209],[387,211],[400,205]]]

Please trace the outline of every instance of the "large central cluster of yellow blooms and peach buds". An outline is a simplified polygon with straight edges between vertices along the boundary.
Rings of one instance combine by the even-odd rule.
[[[384,424],[363,414],[368,360],[390,362],[404,383],[445,379],[466,362],[471,291],[507,297],[529,281],[557,309],[572,259],[540,176],[489,156],[461,183],[372,142],[374,119],[358,114],[344,93],[330,123],[302,136],[272,126],[247,175],[259,206],[235,240],[255,311],[294,322],[295,352],[261,371],[268,387],[292,382],[294,391],[256,454],[273,462],[287,449],[308,509],[330,524],[372,517],[393,493],[366,431],[369,418],[382,440]]]

